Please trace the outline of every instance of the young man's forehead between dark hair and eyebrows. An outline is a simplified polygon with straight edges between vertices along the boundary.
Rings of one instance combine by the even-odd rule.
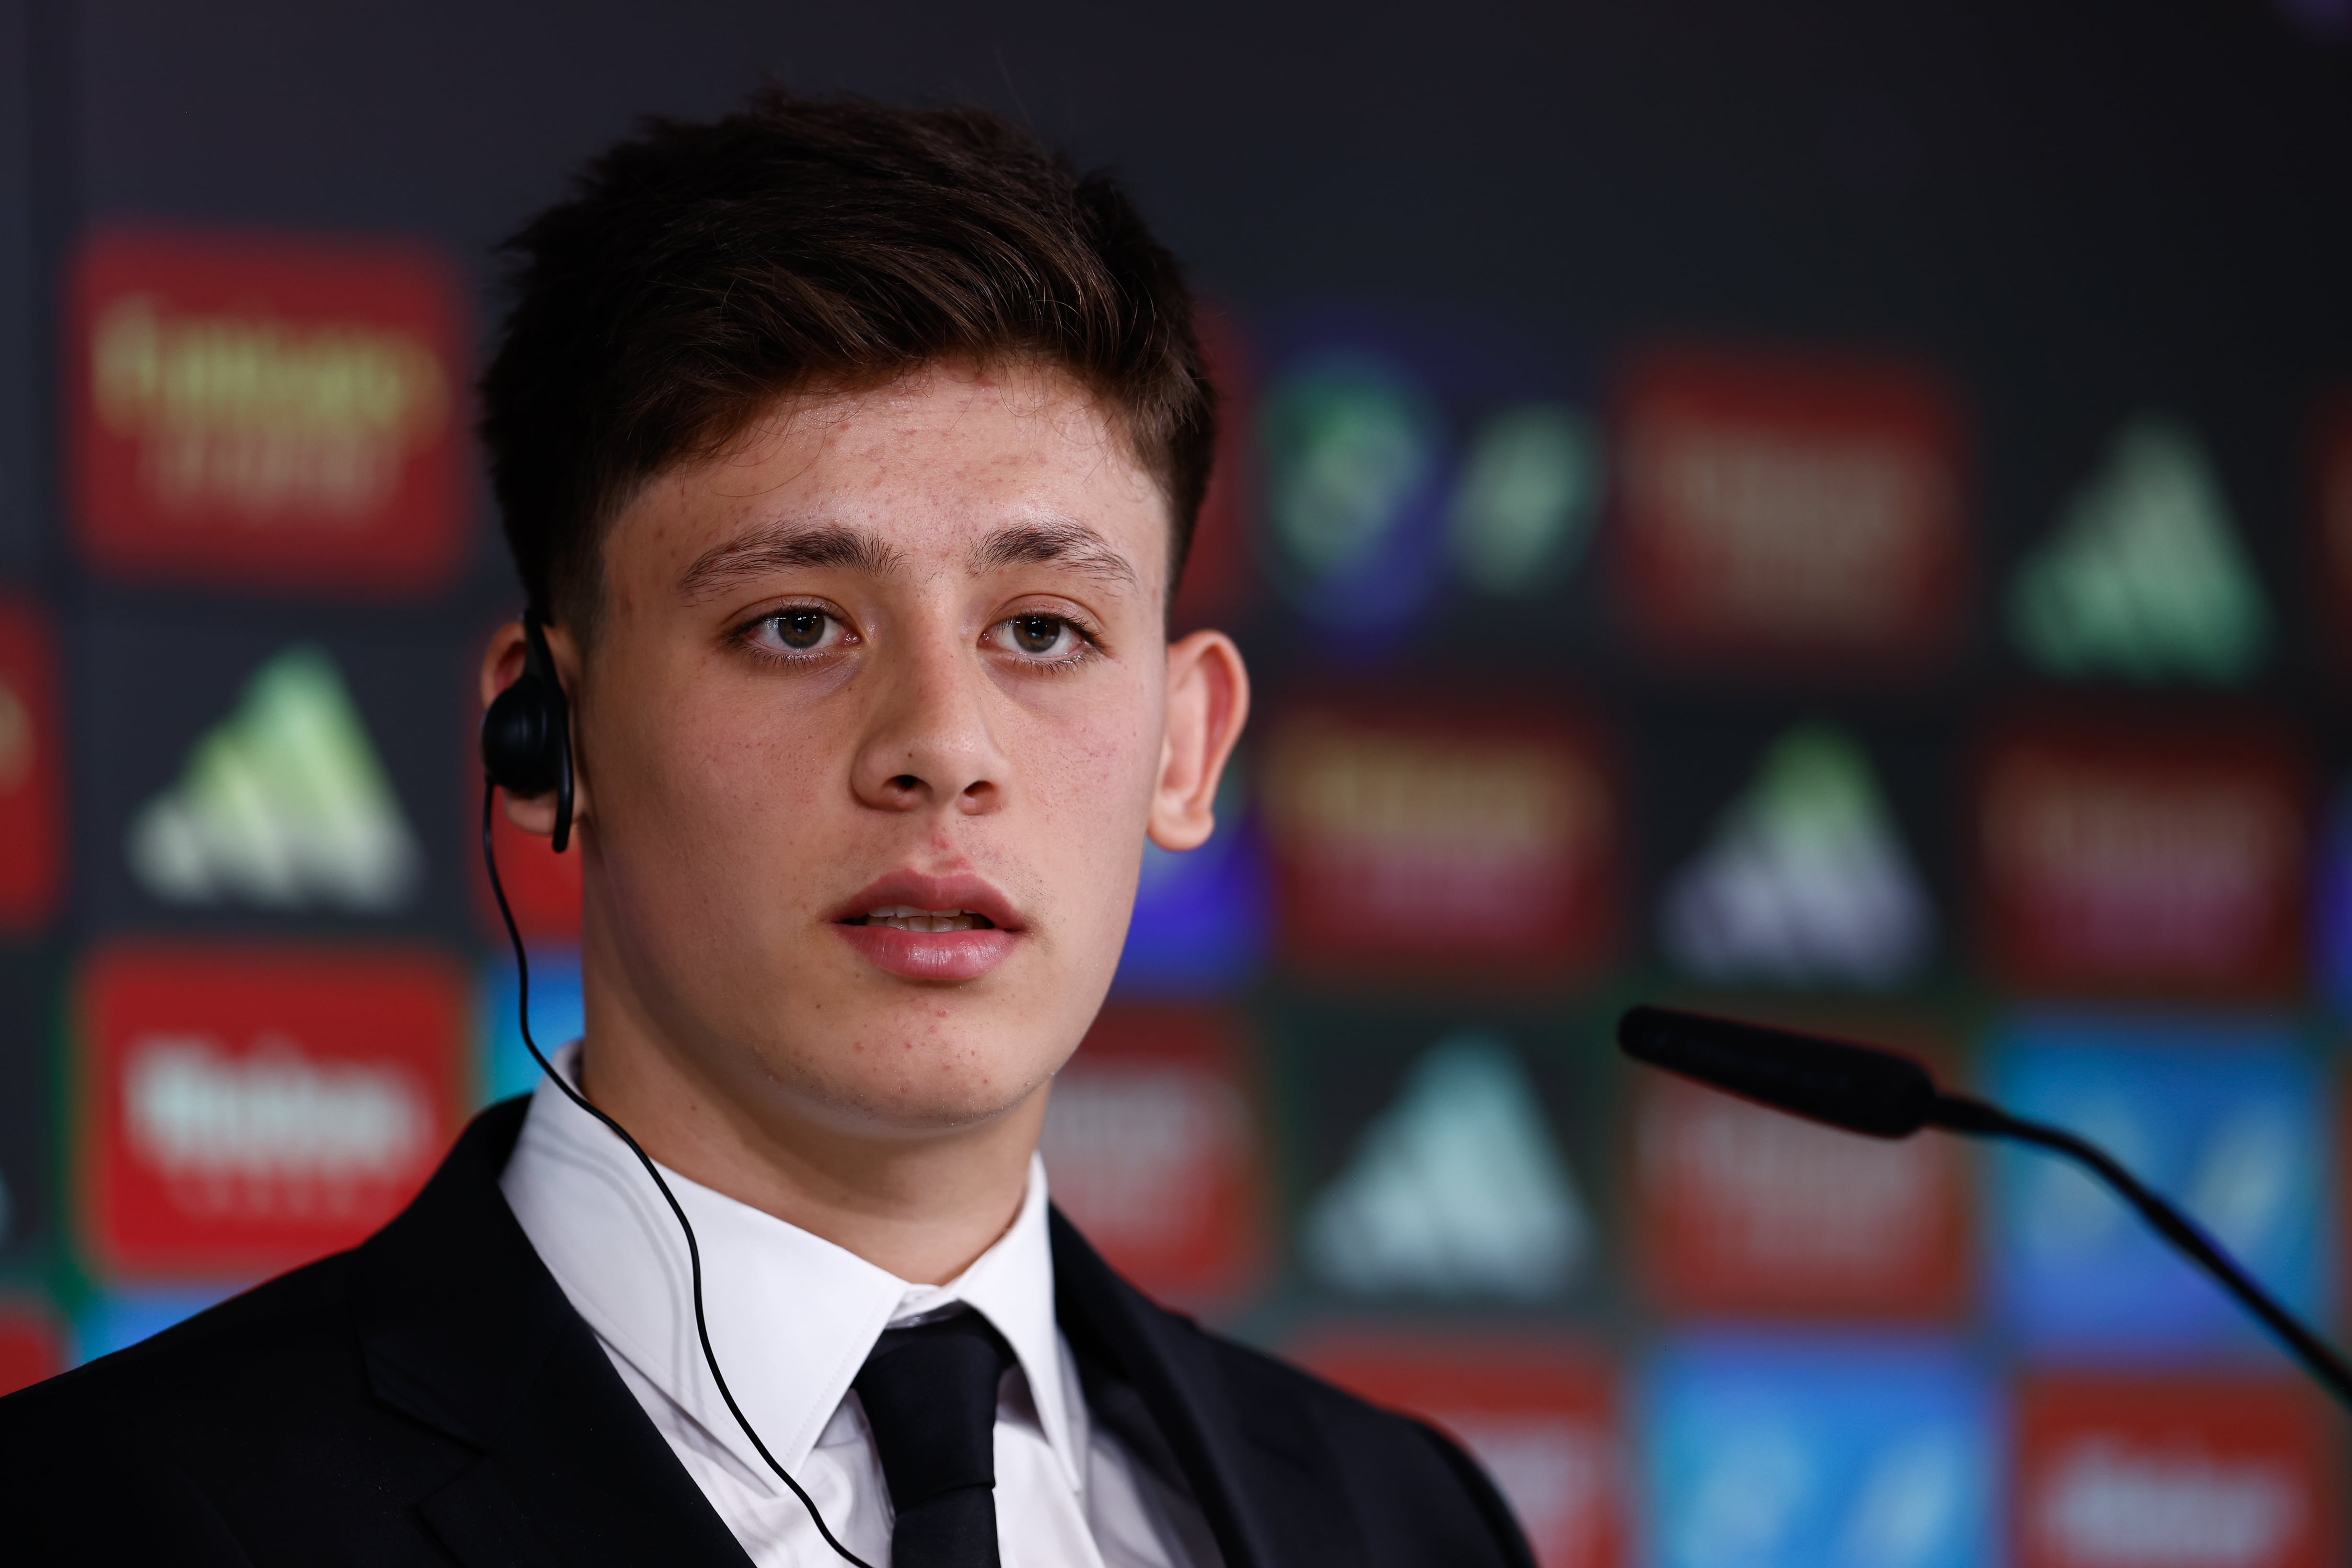
[[[1084,529],[1164,583],[1169,508],[1070,376],[934,367],[873,390],[779,400],[722,451],[656,475],[614,522],[607,562],[691,571],[776,529],[868,538],[901,564],[985,569],[1007,529]]]

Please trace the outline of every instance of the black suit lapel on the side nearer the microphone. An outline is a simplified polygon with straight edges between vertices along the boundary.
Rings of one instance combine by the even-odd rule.
[[[1054,1295],[1061,1331],[1136,1389],[1183,1467],[1225,1568],[1362,1561],[1352,1509],[1336,1490],[1322,1436],[1289,1401],[1237,1401],[1211,1342],[1120,1279],[1054,1211]]]

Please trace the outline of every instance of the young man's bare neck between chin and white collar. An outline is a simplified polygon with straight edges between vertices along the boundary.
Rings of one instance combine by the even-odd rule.
[[[750,1053],[682,1048],[597,978],[583,973],[579,1088],[666,1168],[908,1284],[948,1284],[1018,1218],[1047,1086],[976,1126],[882,1126]]]

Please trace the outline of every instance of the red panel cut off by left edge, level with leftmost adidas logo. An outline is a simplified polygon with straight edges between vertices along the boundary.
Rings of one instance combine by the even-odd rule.
[[[0,599],[0,926],[31,931],[66,870],[56,654],[28,607]]]

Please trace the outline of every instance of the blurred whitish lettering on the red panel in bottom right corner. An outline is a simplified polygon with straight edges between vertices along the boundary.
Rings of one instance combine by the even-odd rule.
[[[2274,1460],[2084,1439],[2051,1467],[2032,1528],[2065,1568],[2267,1568],[2300,1561],[2305,1516]]]

